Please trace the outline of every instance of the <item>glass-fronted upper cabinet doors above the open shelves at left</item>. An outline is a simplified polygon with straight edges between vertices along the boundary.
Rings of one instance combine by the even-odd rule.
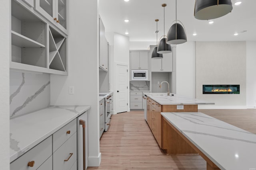
[[[28,0],[26,0],[28,1]],[[64,33],[67,32],[67,0],[35,0],[34,8]]]

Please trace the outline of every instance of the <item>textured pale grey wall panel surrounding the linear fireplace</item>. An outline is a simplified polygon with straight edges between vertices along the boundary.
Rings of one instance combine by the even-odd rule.
[[[202,94],[203,84],[240,84],[240,94]],[[246,42],[196,42],[196,98],[246,106]]]

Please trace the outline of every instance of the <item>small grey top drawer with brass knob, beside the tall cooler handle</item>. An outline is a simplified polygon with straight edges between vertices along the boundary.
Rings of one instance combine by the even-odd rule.
[[[70,132],[70,133],[69,133]],[[53,152],[55,152],[66,140],[76,132],[76,119],[55,132],[53,137]],[[68,134],[69,133],[69,134]]]

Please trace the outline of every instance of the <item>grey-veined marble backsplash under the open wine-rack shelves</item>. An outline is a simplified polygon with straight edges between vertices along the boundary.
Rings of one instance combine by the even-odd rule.
[[[10,118],[50,106],[50,74],[10,72]]]

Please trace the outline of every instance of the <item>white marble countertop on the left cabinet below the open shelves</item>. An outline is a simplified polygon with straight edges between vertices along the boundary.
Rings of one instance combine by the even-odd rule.
[[[50,106],[11,118],[10,162],[90,108],[90,106]]]

